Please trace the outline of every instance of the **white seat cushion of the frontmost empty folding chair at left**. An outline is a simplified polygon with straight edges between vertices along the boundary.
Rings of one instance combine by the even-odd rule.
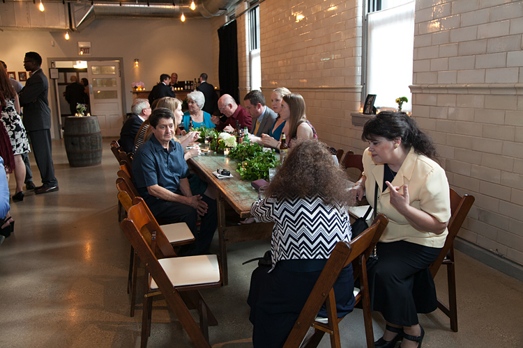
[[[173,286],[199,285],[220,281],[220,265],[216,255],[195,255],[158,260]],[[158,289],[151,279],[151,289]]]

